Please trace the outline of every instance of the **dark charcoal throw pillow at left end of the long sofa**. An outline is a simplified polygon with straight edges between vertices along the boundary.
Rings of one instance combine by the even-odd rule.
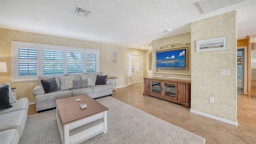
[[[49,80],[41,80],[41,83],[45,93],[51,93],[59,90],[59,87],[55,78],[51,78]]]

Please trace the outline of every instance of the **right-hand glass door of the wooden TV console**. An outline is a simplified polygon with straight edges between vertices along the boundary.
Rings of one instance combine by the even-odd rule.
[[[170,82],[163,82],[163,83],[164,83],[163,97],[177,100],[176,83],[170,83]]]

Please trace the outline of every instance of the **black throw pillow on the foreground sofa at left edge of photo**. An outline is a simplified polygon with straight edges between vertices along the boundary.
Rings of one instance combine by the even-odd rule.
[[[9,87],[3,86],[0,88],[0,109],[8,109],[12,107],[10,104]]]

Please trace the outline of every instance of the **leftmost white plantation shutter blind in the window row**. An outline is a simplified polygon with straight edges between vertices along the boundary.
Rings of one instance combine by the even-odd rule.
[[[18,76],[37,76],[38,50],[18,48]]]

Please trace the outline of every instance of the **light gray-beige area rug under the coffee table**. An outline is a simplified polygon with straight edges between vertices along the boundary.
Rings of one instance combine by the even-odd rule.
[[[81,144],[204,144],[205,139],[112,97],[97,99],[108,107],[108,131]],[[61,144],[56,110],[28,116],[19,144]]]

